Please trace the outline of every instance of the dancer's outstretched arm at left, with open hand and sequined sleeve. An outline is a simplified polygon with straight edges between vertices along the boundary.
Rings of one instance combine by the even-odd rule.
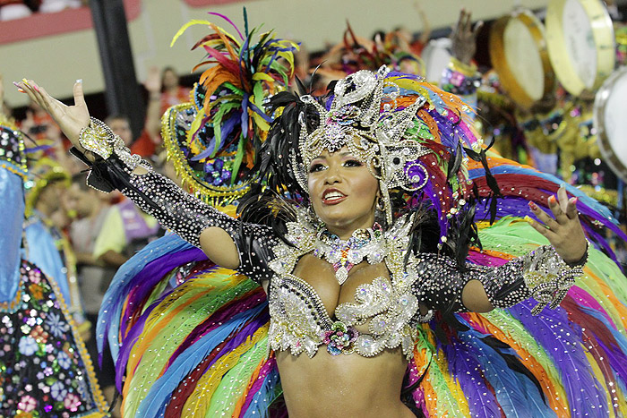
[[[82,94],[82,82],[74,84],[74,106],[49,96],[34,81],[21,81],[21,90],[47,110],[72,141],[73,154],[91,166],[88,183],[110,192],[118,189],[142,210],[202,249],[222,267],[237,269],[254,280],[269,278],[274,236],[270,228],[245,224],[211,208],[150,165],[131,155],[106,124],[90,119]]]

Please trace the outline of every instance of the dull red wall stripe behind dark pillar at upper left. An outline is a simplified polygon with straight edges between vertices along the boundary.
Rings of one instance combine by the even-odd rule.
[[[137,19],[142,11],[142,0],[124,2],[126,20]],[[90,28],[93,28],[93,21],[87,6],[56,13],[33,13],[22,19],[0,21],[0,45]]]

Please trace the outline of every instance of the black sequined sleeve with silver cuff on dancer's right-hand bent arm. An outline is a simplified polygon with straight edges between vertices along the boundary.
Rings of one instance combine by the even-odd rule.
[[[568,265],[552,246],[543,245],[499,267],[468,263],[466,271],[460,272],[448,257],[421,253],[416,288],[419,299],[430,309],[468,311],[461,301],[462,291],[468,281],[477,279],[495,308],[507,308],[533,296],[537,306],[532,313],[537,314],[547,304],[554,309],[562,302],[575,278],[583,274],[581,267],[587,257],[588,250],[576,265]]]

